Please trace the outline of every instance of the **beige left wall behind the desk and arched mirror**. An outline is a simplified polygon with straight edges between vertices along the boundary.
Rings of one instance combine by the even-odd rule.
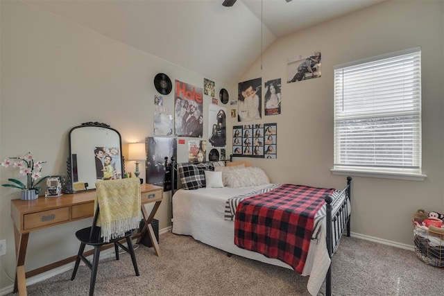
[[[203,87],[204,77],[198,73],[22,1],[1,1],[0,158],[31,151],[47,161],[45,175],[66,173],[68,132],[87,121],[108,123],[120,132],[123,143],[144,141],[153,136],[154,95],[158,94],[153,79],[160,72],[172,81]],[[216,81],[218,94],[221,87],[226,86]],[[210,101],[204,96],[204,112]],[[173,111],[173,92],[164,96],[164,106]],[[143,168],[141,164],[141,177],[145,177]],[[127,163],[126,169],[134,171],[134,162]],[[0,174],[1,184],[8,177],[19,177],[12,168],[2,167]],[[14,277],[10,200],[19,198],[19,191],[1,186],[0,195],[0,239],[7,241],[7,254],[0,262]],[[170,193],[165,193],[155,217],[160,229],[170,225],[170,213]],[[26,270],[76,254],[79,244],[74,233],[90,223],[85,219],[32,232]],[[1,270],[0,275],[0,288],[13,284]]]

